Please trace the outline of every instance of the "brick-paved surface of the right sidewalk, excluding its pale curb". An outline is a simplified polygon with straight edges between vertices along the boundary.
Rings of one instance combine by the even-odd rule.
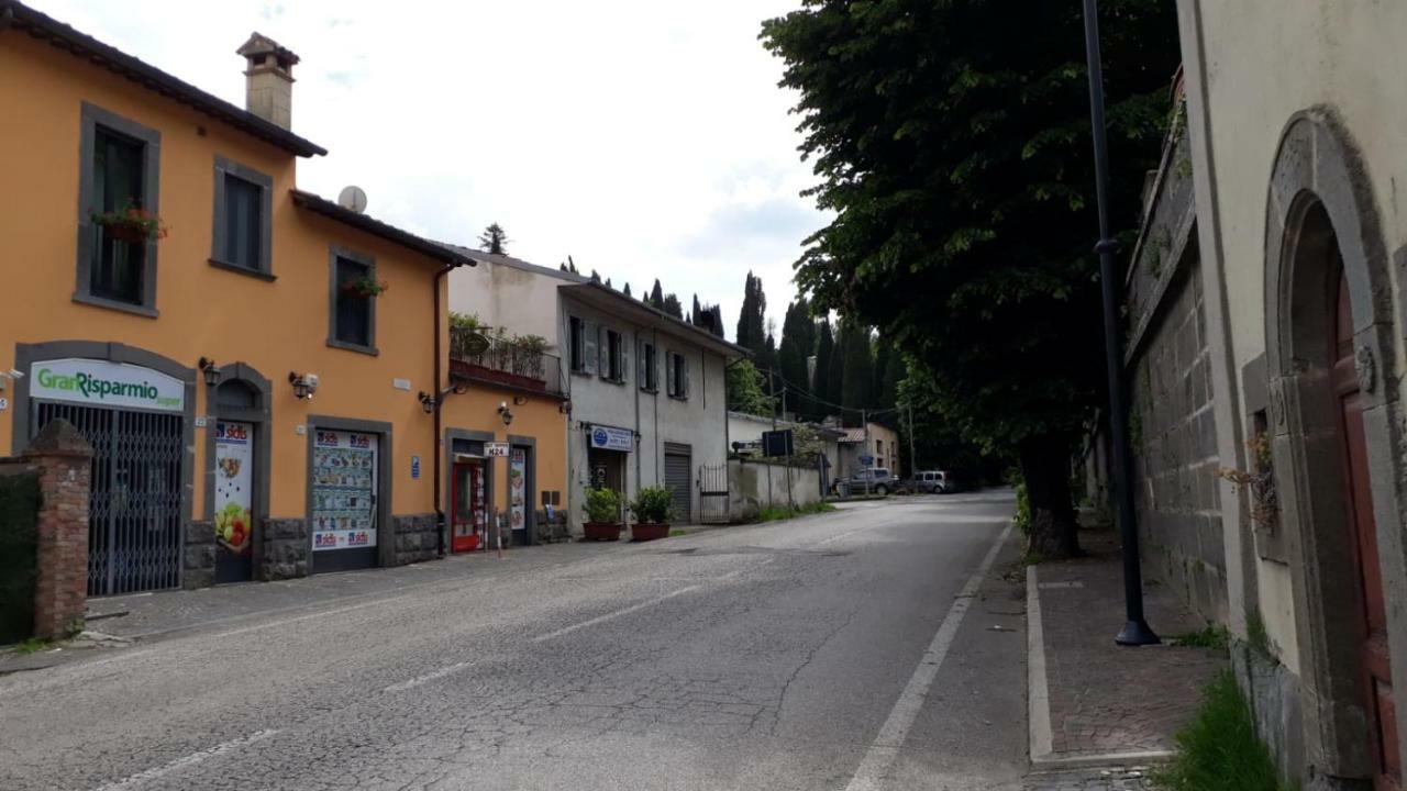
[[[1171,645],[1121,647],[1123,570],[1113,531],[1081,535],[1088,557],[1037,569],[1051,754],[1099,756],[1171,750],[1224,652]],[[1175,591],[1148,581],[1148,624],[1164,638],[1202,629]],[[1096,787],[1097,788],[1097,787]]]

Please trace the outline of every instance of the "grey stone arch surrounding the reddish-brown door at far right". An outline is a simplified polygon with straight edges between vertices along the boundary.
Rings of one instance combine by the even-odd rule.
[[[1366,166],[1332,110],[1290,118],[1272,170],[1265,239],[1265,339],[1280,526],[1294,598],[1310,771],[1361,781],[1372,776],[1354,546],[1344,529],[1348,497],[1338,403],[1330,387],[1334,294],[1346,281],[1368,442],[1372,511],[1384,591],[1407,591],[1401,525],[1401,414],[1389,255]],[[1355,584],[1348,584],[1354,581]],[[1393,678],[1407,678],[1407,612],[1389,612]],[[1394,684],[1396,687],[1396,684]],[[1399,708],[1399,730],[1407,725]],[[1334,785],[1337,787],[1337,785]]]

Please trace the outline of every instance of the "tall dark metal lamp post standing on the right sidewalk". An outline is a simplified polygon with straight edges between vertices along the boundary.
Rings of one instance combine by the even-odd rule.
[[[1085,56],[1089,61],[1089,118],[1095,132],[1095,190],[1099,203],[1099,279],[1104,296],[1104,363],[1109,373],[1109,431],[1114,441],[1114,488],[1119,495],[1119,529],[1124,543],[1124,611],[1127,621],[1114,638],[1121,646],[1158,643],[1144,621],[1142,569],[1138,562],[1138,525],[1134,521],[1133,455],[1128,448],[1128,394],[1124,391],[1119,329],[1119,242],[1109,231],[1109,141],[1104,135],[1104,72],[1099,55],[1097,0],[1085,0]]]

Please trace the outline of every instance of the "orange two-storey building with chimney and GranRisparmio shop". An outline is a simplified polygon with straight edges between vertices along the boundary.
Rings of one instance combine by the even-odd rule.
[[[55,418],[94,445],[91,595],[435,557],[456,462],[460,519],[532,540],[560,387],[449,376],[474,262],[297,190],[298,58],[239,55],[246,108],[0,0],[0,448]]]

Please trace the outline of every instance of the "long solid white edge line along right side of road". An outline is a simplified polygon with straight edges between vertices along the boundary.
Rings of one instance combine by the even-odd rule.
[[[884,726],[879,728],[879,735],[875,736],[870,749],[865,750],[865,757],[860,761],[860,767],[855,768],[855,774],[850,778],[850,784],[846,785],[846,791],[875,791],[881,788],[884,777],[899,756],[899,747],[903,746],[903,740],[909,736],[909,729],[913,728],[913,721],[919,716],[919,711],[929,697],[929,688],[933,687],[933,680],[938,676],[938,669],[943,667],[943,660],[953,646],[953,639],[958,633],[958,626],[962,625],[962,616],[967,615],[968,607],[972,604],[972,597],[976,595],[978,587],[982,586],[982,580],[992,570],[996,555],[1006,545],[1006,539],[1010,535],[1012,525],[1007,524],[1002,535],[992,543],[992,549],[986,552],[982,564],[968,577],[967,584],[962,586],[957,598],[953,600],[953,607],[948,608],[947,616],[938,625],[938,632],[933,635],[933,642],[929,643],[929,649],[919,659],[919,666],[913,670],[909,684],[899,694],[899,700],[895,701],[893,709],[889,711],[889,718],[885,719]]]

